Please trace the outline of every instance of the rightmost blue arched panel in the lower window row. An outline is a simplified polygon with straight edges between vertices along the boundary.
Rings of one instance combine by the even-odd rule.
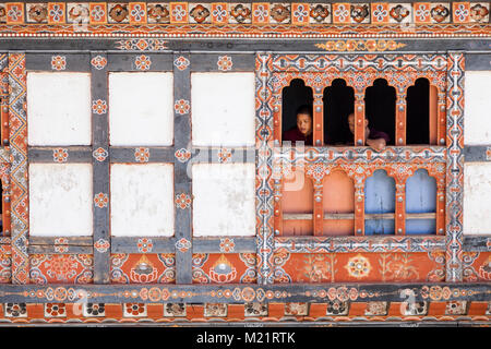
[[[419,169],[406,182],[406,234],[436,230],[436,180]]]

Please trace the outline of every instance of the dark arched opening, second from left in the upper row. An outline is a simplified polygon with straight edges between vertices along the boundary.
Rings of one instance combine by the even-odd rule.
[[[349,131],[348,116],[355,111],[355,91],[343,79],[336,79],[324,88],[324,143],[352,145],[355,135]]]

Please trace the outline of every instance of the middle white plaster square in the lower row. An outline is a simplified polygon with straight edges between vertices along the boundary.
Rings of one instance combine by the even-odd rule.
[[[173,236],[173,166],[111,165],[111,236]]]

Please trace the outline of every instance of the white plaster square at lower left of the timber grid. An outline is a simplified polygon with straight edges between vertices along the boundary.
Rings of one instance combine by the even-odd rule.
[[[31,164],[28,170],[29,234],[92,236],[92,165]]]

